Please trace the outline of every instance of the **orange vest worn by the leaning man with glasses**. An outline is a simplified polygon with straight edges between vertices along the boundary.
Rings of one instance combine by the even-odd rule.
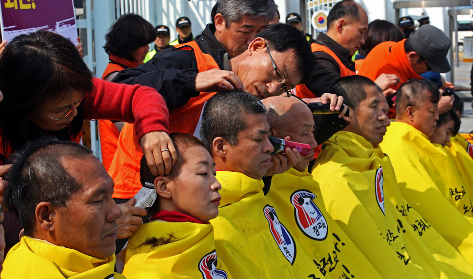
[[[214,58],[209,54],[202,53],[197,42],[187,42],[179,49],[194,51],[199,72],[219,69]],[[169,132],[187,133],[198,137],[203,107],[205,102],[215,94],[216,92],[200,92],[199,96],[191,98],[184,106],[171,111],[169,113]],[[121,130],[117,152],[108,171],[115,182],[113,198],[130,199],[141,189],[139,162],[142,156],[143,152],[138,143],[135,126],[126,123]]]

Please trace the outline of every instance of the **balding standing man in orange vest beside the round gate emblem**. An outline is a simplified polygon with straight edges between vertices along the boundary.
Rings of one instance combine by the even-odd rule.
[[[310,79],[296,88],[300,98],[315,98],[329,92],[340,77],[355,75],[352,56],[365,43],[368,30],[365,10],[353,0],[337,2],[327,17],[327,35],[320,33],[311,44],[315,65]]]

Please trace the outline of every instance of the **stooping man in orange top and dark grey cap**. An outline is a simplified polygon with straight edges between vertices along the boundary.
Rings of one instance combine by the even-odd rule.
[[[451,67],[447,53],[451,44],[451,40],[442,30],[433,25],[424,25],[408,39],[399,42],[386,41],[375,46],[366,56],[358,75],[376,80],[383,73],[395,74],[400,82],[391,88],[397,90],[409,80],[422,80],[420,75],[425,72],[449,72]],[[450,110],[452,104],[451,96],[442,96],[439,101],[439,113]]]

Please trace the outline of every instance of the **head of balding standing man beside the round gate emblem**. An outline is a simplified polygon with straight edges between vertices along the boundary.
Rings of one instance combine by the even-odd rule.
[[[327,17],[327,36],[351,55],[365,43],[364,34],[368,30],[368,16],[365,10],[353,0],[337,2]]]

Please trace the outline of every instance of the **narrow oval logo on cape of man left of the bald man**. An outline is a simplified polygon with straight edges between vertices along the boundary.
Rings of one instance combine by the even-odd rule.
[[[266,205],[263,208],[263,212],[269,222],[271,234],[276,240],[279,250],[281,250],[284,257],[286,257],[291,264],[294,264],[294,260],[296,259],[296,244],[294,244],[293,237],[286,227],[279,222],[279,219],[277,219],[274,207]]]

